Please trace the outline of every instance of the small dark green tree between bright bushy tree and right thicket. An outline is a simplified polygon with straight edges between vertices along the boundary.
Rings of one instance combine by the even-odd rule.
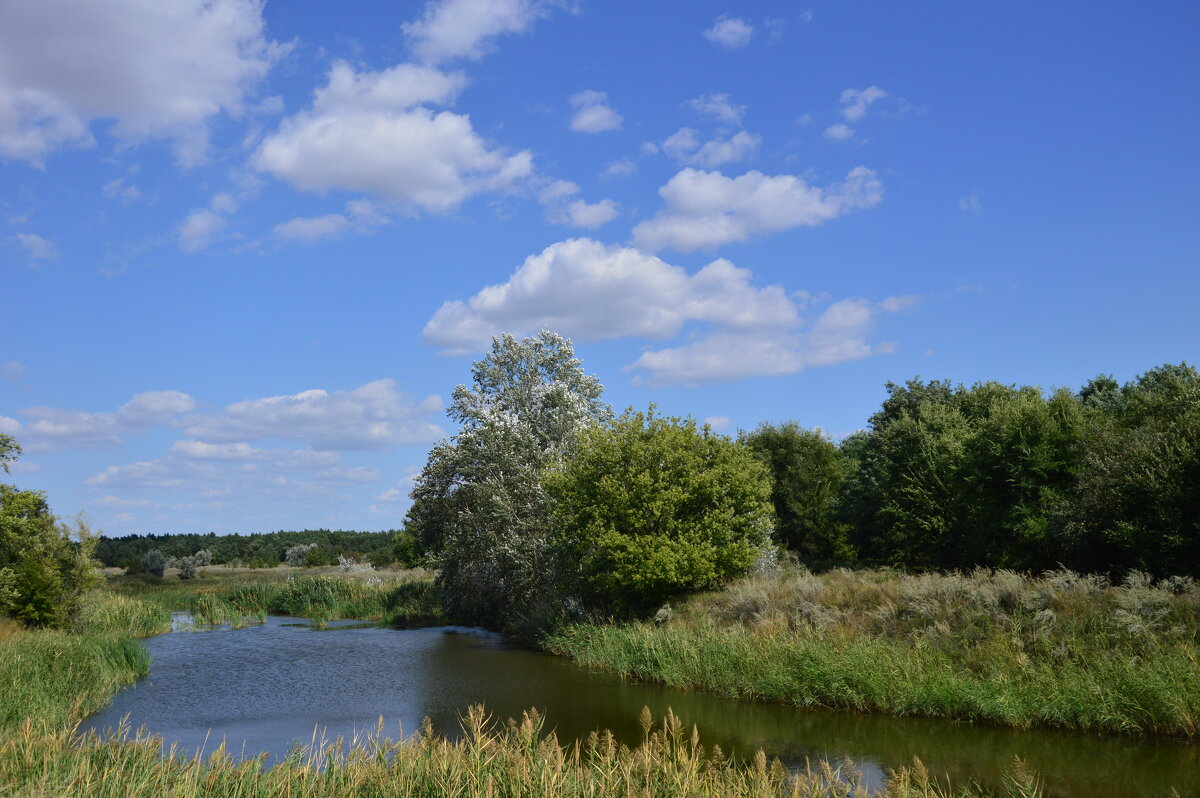
[[[845,475],[838,446],[794,421],[762,424],[738,442],[770,469],[775,539],[809,562],[852,559],[846,524],[836,517]]]

